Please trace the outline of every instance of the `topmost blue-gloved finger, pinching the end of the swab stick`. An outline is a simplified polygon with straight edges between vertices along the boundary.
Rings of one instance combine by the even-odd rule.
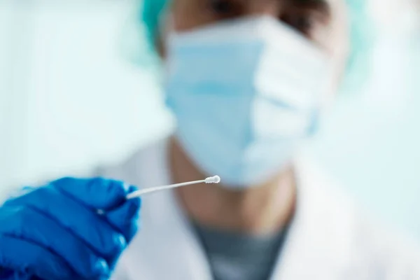
[[[104,178],[63,178],[51,185],[94,209],[109,210],[125,202],[127,186],[121,181]]]

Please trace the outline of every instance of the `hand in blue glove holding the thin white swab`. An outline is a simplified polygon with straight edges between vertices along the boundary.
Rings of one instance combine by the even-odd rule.
[[[0,207],[0,279],[109,279],[137,232],[134,187],[64,178]]]

